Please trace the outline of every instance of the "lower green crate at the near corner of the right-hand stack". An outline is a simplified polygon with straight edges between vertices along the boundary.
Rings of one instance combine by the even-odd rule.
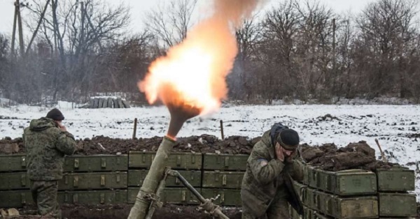
[[[316,191],[318,209],[321,213],[334,218],[378,218],[376,196],[339,197]]]

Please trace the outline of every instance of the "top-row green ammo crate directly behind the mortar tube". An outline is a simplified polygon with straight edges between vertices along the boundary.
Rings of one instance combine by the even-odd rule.
[[[155,158],[155,156],[155,152],[130,151],[128,167],[148,169],[151,167],[152,160]],[[171,152],[167,160],[167,166],[171,167],[172,169],[201,169],[202,154]]]

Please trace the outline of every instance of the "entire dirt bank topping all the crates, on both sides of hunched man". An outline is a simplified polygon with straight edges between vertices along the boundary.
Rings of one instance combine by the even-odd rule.
[[[200,135],[179,137],[172,151],[197,153],[227,153],[250,154],[253,145],[260,137],[248,139],[244,136],[230,136],[224,140],[214,135]],[[97,136],[92,139],[77,140],[76,155],[94,154],[127,154],[129,151],[157,151],[162,137],[139,139],[114,139]],[[344,169],[367,169],[374,171],[377,168],[390,168],[395,163],[384,163],[377,160],[374,149],[366,142],[351,143],[345,147],[337,148],[335,144],[321,146],[301,145],[302,158],[309,164],[328,171]],[[25,153],[22,138],[0,140],[1,153]]]

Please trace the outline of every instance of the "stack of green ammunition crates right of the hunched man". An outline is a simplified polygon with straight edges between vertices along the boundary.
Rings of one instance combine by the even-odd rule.
[[[328,172],[305,168],[294,182],[304,204],[304,219],[409,218],[416,216],[414,171],[407,168]],[[290,218],[302,218],[290,207]]]

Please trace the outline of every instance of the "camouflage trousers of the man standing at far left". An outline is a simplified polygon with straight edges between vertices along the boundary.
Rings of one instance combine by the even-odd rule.
[[[42,218],[62,218],[57,202],[58,181],[31,181],[32,199]]]

